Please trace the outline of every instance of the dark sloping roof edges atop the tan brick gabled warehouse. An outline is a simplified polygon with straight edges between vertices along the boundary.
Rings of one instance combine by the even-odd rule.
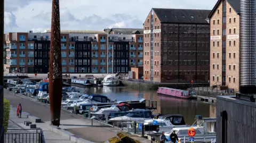
[[[218,0],[218,2],[214,5],[212,11],[210,12],[210,14],[208,15],[208,18],[211,18],[212,15],[214,14],[214,12],[218,9],[219,4],[222,2],[223,0]],[[239,14],[240,13],[240,0],[227,0],[227,2],[229,3],[229,5],[234,9],[234,11]]]

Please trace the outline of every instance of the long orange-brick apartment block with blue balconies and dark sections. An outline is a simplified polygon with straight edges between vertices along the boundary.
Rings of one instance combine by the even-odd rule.
[[[107,38],[105,31],[62,30],[62,72],[111,73],[113,60],[114,73],[128,73],[132,67],[142,67],[143,35],[135,32],[110,33]],[[33,31],[6,33],[5,71],[47,73],[50,61],[50,37],[49,30],[43,33]]]

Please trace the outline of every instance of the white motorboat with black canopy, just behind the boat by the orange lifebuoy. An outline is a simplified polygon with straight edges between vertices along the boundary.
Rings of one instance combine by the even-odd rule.
[[[159,116],[158,119],[145,120],[145,125],[158,124],[158,132],[169,132],[173,128],[190,127],[185,123],[184,117],[180,114],[167,114]]]

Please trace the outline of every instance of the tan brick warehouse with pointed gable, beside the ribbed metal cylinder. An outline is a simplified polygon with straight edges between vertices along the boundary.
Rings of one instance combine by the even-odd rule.
[[[209,14],[210,85],[239,89],[239,0],[219,0]]]

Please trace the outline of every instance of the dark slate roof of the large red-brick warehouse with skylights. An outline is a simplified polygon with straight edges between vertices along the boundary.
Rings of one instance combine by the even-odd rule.
[[[206,21],[211,10],[156,9],[153,8],[161,23],[197,23],[209,24]]]

